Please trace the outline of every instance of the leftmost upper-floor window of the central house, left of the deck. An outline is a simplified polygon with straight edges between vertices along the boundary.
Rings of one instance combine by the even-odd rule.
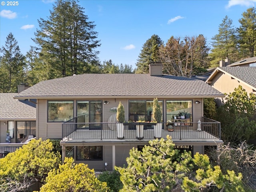
[[[74,118],[73,101],[48,101],[48,122],[64,122]]]

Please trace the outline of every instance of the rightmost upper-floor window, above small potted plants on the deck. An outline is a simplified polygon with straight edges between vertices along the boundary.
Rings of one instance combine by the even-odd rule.
[[[166,120],[172,120],[174,115],[180,112],[192,114],[192,100],[170,100],[166,101]]]

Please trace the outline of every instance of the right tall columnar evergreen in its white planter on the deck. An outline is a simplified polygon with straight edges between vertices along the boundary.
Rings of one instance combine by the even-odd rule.
[[[153,101],[153,119],[157,122],[156,125],[154,125],[154,137],[155,138],[161,138],[162,137],[162,111],[160,108],[160,105],[158,104],[158,99],[154,98]]]

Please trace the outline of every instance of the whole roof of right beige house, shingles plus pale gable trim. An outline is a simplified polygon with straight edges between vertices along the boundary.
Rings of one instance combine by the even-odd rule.
[[[217,67],[206,82],[211,81],[219,71],[256,89],[256,67]]]

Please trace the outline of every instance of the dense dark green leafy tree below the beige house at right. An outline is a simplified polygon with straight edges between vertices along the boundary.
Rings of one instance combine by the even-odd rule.
[[[217,109],[221,122],[222,140],[227,144],[248,141],[256,136],[256,95],[247,94],[242,86],[228,94],[226,102]]]

